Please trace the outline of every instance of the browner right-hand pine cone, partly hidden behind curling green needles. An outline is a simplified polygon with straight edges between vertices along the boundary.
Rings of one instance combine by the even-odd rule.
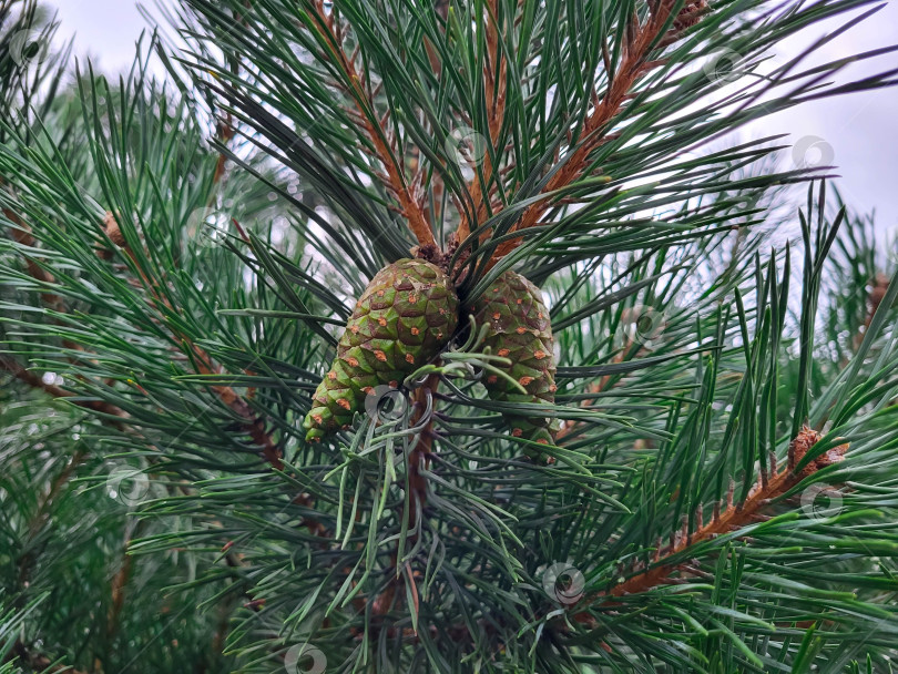
[[[470,308],[478,326],[489,325],[484,346],[492,354],[511,360],[497,365],[527,389],[527,395],[511,382],[487,372],[483,384],[492,400],[503,402],[555,401],[555,358],[552,324],[542,293],[520,274],[508,270]],[[550,420],[543,417],[506,415],[506,422],[516,438],[540,445],[553,445]],[[525,450],[534,460],[544,461],[540,452]]]

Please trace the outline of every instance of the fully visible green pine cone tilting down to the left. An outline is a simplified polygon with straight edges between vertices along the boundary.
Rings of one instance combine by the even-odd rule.
[[[458,324],[449,277],[422,259],[400,259],[378,272],[361,294],[303,421],[306,441],[348,427],[365,396],[394,388],[432,360]]]

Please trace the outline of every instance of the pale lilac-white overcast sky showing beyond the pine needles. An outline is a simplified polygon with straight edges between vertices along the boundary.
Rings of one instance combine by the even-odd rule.
[[[130,67],[134,43],[147,23],[132,0],[50,0],[62,23],[59,34],[74,34],[79,57],[90,55],[101,70],[114,73]],[[815,33],[790,38],[777,61],[787,60],[814,39],[839,27],[834,20],[815,27]],[[809,64],[845,58],[896,41],[898,0],[825,45]],[[855,64],[844,73],[857,78],[898,68],[898,54]],[[844,81],[845,78],[843,78]],[[877,229],[898,233],[898,88],[813,101],[743,127],[743,139],[789,133],[793,151],[784,161],[805,156],[829,160],[841,176],[837,185],[857,212],[876,210]],[[889,236],[890,238],[891,236]]]

